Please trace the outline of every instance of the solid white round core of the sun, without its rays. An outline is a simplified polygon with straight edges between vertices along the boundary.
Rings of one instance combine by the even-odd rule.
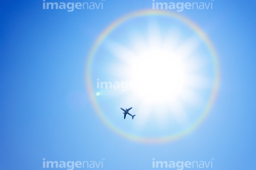
[[[135,56],[127,74],[134,84],[134,94],[142,101],[173,101],[186,92],[188,72],[179,55],[153,47]]]

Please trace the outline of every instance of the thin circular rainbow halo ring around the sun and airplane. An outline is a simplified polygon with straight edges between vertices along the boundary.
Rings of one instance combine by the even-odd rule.
[[[114,125],[112,125],[110,121],[107,120],[104,113],[100,109],[100,106],[97,103],[97,99],[95,98],[95,94],[93,92],[92,80],[91,80],[91,65],[92,65],[93,57],[95,56],[95,52],[97,52],[97,48],[101,45],[102,41],[105,40],[107,35],[112,33],[112,31],[116,29],[118,26],[120,26],[122,23],[124,23],[125,21],[129,21],[132,18],[137,18],[141,16],[168,16],[171,18],[176,18],[183,23],[186,23],[186,25],[192,28],[192,30],[194,30],[201,37],[201,39],[206,43],[212,55],[213,64],[215,65],[215,77],[214,77],[213,89],[212,89],[208,104],[206,105],[201,115],[201,118],[199,118],[196,121],[196,123],[194,123],[187,130],[184,130],[183,132],[179,132],[171,136],[157,137],[157,138],[139,137],[137,135],[128,134],[127,132],[123,132],[122,130],[119,130]],[[199,28],[195,23],[188,20],[188,18],[185,18],[181,15],[178,15],[177,13],[173,13],[169,11],[142,10],[142,11],[136,11],[134,13],[129,13],[126,16],[122,16],[121,18],[117,19],[117,21],[114,21],[112,24],[110,24],[110,26],[108,26],[102,33],[100,33],[95,43],[92,45],[89,55],[87,56],[85,80],[86,80],[87,92],[90,96],[90,101],[92,102],[92,106],[95,109],[95,112],[100,117],[100,119],[107,125],[107,127],[109,127],[111,130],[113,130],[114,132],[117,132],[117,134],[121,135],[122,137],[126,137],[129,140],[134,140],[136,142],[144,142],[144,143],[170,142],[173,140],[177,140],[185,135],[188,135],[189,132],[192,132],[193,130],[198,128],[198,126],[201,125],[201,123],[203,123],[203,120],[206,119],[208,113],[210,112],[210,108],[212,108],[215,98],[217,96],[218,86],[220,84],[220,67],[218,63],[217,52],[215,51],[215,48],[213,47],[212,42],[210,42],[210,39],[207,37],[207,35],[203,33],[203,30],[201,30],[201,28]]]

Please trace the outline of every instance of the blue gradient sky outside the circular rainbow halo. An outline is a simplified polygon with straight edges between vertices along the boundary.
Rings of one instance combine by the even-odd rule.
[[[255,169],[255,1],[215,1],[185,10],[218,51],[221,82],[210,115],[190,135],[160,145],[115,134],[85,90],[92,43],[112,21],[151,1],[105,1],[104,10],[43,10],[42,1],[1,1],[0,166],[43,169],[43,158],[100,161],[104,169],[151,169],[152,158]]]

